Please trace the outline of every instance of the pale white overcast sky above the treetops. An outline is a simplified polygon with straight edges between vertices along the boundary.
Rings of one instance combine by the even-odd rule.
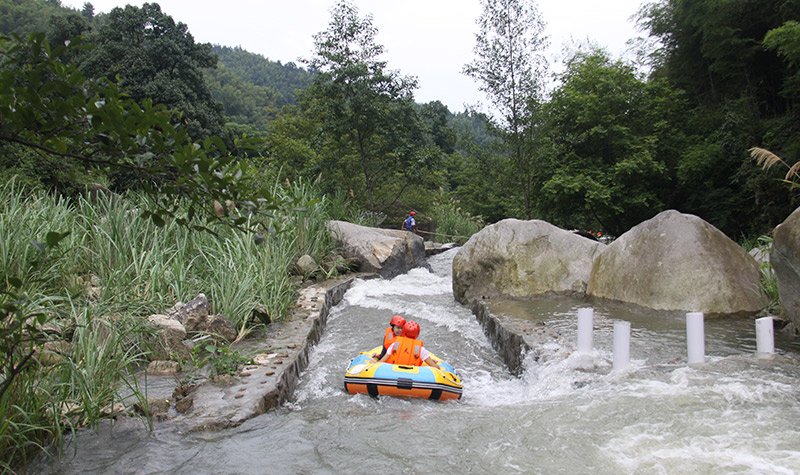
[[[630,17],[645,0],[539,0],[547,23],[548,56],[557,69],[565,44],[587,38],[618,57],[640,34]],[[85,0],[62,0],[80,9]],[[95,13],[142,1],[92,0]],[[189,27],[195,41],[241,46],[272,61],[298,62],[313,55],[313,35],[327,28],[335,0],[161,0],[161,10]],[[389,69],[416,76],[417,102],[439,100],[451,112],[486,103],[473,80],[461,73],[473,60],[479,0],[353,0],[361,17],[373,16],[376,42]]]

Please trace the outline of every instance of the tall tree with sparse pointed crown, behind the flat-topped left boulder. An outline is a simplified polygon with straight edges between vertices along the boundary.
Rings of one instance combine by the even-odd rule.
[[[438,155],[422,146],[416,79],[386,69],[372,17],[359,17],[347,1],[331,15],[328,29],[314,36],[315,56],[306,63],[317,74],[300,103],[320,124],[325,150],[317,166],[325,179],[383,212],[426,178]]]

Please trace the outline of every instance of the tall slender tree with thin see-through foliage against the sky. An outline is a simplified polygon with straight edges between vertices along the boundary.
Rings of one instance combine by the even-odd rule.
[[[478,20],[475,60],[464,73],[481,82],[499,118],[494,123],[511,148],[513,167],[509,178],[519,183],[525,215],[532,217],[533,180],[537,141],[540,139],[538,113],[542,102],[547,45],[545,24],[534,0],[482,0]]]

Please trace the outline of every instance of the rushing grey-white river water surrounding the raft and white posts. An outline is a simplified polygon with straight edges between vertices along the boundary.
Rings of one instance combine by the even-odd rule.
[[[595,350],[574,352],[585,303],[517,303],[554,336],[511,375],[471,312],[456,304],[455,251],[433,272],[358,281],[329,317],[295,401],[221,432],[85,432],[59,460],[28,473],[798,473],[800,362],[777,341],[753,354],[754,324],[710,320],[706,363],[686,365],[684,321],[595,307]],[[422,327],[420,338],[464,383],[459,401],[343,390],[358,351],[377,346],[391,316]],[[631,365],[611,371],[612,326],[632,322]]]

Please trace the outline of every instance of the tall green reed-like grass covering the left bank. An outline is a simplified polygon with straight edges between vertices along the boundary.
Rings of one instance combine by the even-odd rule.
[[[240,336],[262,324],[256,315],[264,321],[286,316],[299,285],[289,274],[298,256],[322,262],[333,254],[333,243],[324,225],[325,199],[313,185],[276,183],[273,191],[292,208],[249,223],[264,230],[257,240],[223,226],[214,233],[169,221],[155,226],[140,217],[151,203],[135,195],[70,202],[26,194],[13,180],[0,186],[0,304],[24,295],[26,312],[46,315],[48,325],[60,328],[52,334],[40,324],[15,330],[11,318],[0,321],[6,353],[0,354],[6,361],[0,383],[13,383],[0,397],[0,472],[50,443],[58,446],[64,430],[108,417],[121,390],[141,396],[131,368],[147,357],[144,322],[151,313],[203,292]],[[45,249],[48,231],[70,234],[58,248]],[[3,344],[25,331],[35,335],[15,341],[27,346]],[[42,355],[53,339],[69,344],[58,361],[32,360],[11,373],[8,361],[29,350]]]

